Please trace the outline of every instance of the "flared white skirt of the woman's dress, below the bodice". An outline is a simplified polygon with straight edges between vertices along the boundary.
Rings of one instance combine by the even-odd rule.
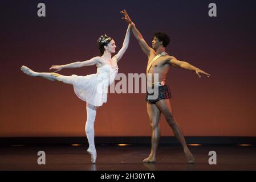
[[[87,76],[72,75],[76,96],[88,104],[102,106],[107,102],[108,79],[98,74]]]

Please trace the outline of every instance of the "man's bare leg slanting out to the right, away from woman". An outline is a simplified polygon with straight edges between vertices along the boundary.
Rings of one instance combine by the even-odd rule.
[[[172,105],[170,104],[169,99],[160,100],[156,102],[157,107],[161,111],[162,114],[164,114],[164,117],[166,121],[168,122],[168,125],[172,128],[173,133],[175,137],[178,139],[178,141],[182,144],[183,150],[185,152],[186,158],[188,159],[188,163],[192,164],[195,162],[194,156],[190,152],[184,135],[182,133],[181,127],[178,125],[172,110]]]

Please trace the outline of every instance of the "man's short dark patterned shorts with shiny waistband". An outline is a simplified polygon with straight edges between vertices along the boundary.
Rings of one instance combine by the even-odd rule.
[[[152,100],[152,99],[149,99],[148,96],[151,96],[153,95],[154,93],[147,93],[147,96],[146,96],[146,101],[151,103],[151,104],[155,104],[157,101],[160,101],[162,99],[169,99],[169,98],[172,98],[171,94],[170,94],[170,89],[169,89],[169,86],[167,85],[163,85],[163,86],[157,86],[158,89],[159,89],[159,95],[156,99]],[[153,88],[152,88],[153,89]]]

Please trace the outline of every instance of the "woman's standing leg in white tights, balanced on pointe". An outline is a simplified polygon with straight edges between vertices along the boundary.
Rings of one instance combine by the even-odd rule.
[[[91,161],[92,163],[96,162],[97,153],[94,144],[94,122],[96,118],[96,106],[87,104],[86,111],[87,111],[87,121],[86,121],[86,136],[89,143],[89,148],[87,152],[91,154]]]

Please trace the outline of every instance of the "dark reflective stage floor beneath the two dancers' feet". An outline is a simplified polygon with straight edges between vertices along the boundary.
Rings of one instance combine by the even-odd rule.
[[[159,146],[156,164],[142,162],[150,146],[101,145],[96,164],[87,146],[4,146],[0,147],[0,170],[256,170],[256,146],[190,146],[196,164],[187,164],[181,146]],[[46,164],[38,165],[38,151],[46,153]],[[217,164],[208,163],[209,151],[217,152]]]

